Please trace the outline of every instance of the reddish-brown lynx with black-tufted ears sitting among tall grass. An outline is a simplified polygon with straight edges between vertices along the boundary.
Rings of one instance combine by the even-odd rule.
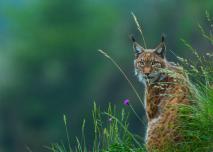
[[[177,129],[180,104],[188,105],[189,83],[183,69],[165,58],[164,37],[155,49],[144,49],[132,37],[135,75],[145,85],[148,151],[165,151],[170,143],[182,140]]]

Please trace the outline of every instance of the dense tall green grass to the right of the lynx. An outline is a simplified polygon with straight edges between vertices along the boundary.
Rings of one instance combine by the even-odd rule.
[[[206,16],[207,20],[211,21],[208,12]],[[207,34],[201,25],[198,25],[198,28],[202,36],[213,45],[211,33]],[[213,51],[201,54],[186,40],[181,41],[195,58],[187,60],[177,57],[189,75],[193,104],[179,107],[178,127],[184,140],[169,151],[213,151]]]

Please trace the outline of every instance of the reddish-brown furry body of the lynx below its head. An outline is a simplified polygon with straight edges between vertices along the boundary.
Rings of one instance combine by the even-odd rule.
[[[163,150],[167,144],[180,140],[176,128],[177,106],[189,104],[187,83],[184,84],[181,80],[170,77],[166,77],[162,82],[170,82],[170,84],[162,87],[159,83],[147,87],[146,112],[149,131],[146,144],[149,151],[154,148]],[[161,89],[156,88],[159,85]],[[158,120],[152,124],[155,118]]]

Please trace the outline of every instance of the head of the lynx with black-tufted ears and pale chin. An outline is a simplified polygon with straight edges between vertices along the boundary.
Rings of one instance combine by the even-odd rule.
[[[160,69],[166,67],[164,37],[155,49],[144,49],[135,41],[134,37],[132,37],[132,41],[135,52],[135,74],[139,81],[156,82],[162,79],[163,74]]]

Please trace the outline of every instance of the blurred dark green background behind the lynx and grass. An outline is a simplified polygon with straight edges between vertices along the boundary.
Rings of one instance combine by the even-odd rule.
[[[149,48],[165,33],[168,50],[190,57],[180,38],[201,52],[212,49],[197,28],[207,27],[206,10],[213,13],[212,0],[1,0],[0,152],[24,152],[27,146],[48,151],[44,146],[65,141],[63,114],[73,144],[86,119],[91,148],[94,101],[102,109],[109,102],[122,108],[128,98],[144,117],[127,81],[97,50],[107,50],[142,96],[128,35],[142,39],[131,11]],[[169,51],[167,58],[176,61]],[[144,134],[132,114],[130,130]]]

